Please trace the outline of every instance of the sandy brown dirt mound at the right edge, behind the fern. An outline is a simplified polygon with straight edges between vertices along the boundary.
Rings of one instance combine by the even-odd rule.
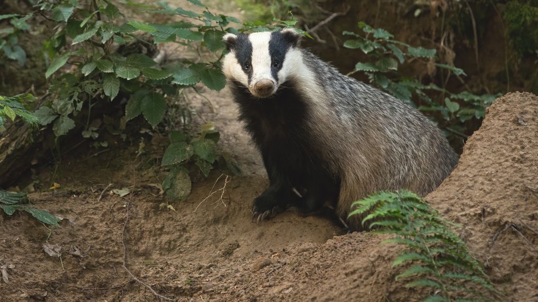
[[[538,97],[495,100],[427,199],[463,226],[471,253],[508,300],[538,300]]]

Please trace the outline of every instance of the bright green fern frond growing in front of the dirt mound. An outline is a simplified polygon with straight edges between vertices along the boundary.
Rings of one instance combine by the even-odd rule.
[[[395,278],[406,287],[430,289],[424,301],[491,301],[498,297],[482,265],[452,231],[458,225],[442,218],[410,191],[380,192],[351,205],[352,215],[366,215],[363,225],[376,233],[393,234],[392,242],[406,246],[392,266],[406,265]]]

